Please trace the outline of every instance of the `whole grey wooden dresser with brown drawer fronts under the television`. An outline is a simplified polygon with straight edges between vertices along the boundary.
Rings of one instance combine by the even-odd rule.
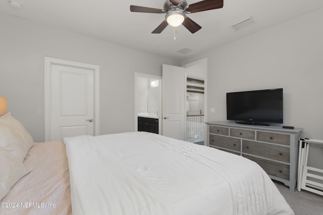
[[[243,125],[235,122],[206,122],[207,144],[241,155],[262,167],[274,180],[296,188],[298,145],[302,128]]]

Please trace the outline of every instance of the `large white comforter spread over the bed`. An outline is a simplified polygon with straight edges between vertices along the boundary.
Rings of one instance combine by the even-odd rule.
[[[64,138],[73,214],[294,214],[254,162],[147,132]]]

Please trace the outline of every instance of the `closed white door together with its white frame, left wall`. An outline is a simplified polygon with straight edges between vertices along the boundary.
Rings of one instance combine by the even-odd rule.
[[[99,66],[45,57],[45,141],[99,135]]]

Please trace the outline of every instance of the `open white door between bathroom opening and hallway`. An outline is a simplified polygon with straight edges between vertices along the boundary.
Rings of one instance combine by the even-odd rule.
[[[163,135],[185,140],[185,68],[163,64]]]

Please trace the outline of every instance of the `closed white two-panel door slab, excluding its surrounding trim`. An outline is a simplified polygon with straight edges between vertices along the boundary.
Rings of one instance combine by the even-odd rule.
[[[93,70],[51,65],[50,140],[94,134]]]

